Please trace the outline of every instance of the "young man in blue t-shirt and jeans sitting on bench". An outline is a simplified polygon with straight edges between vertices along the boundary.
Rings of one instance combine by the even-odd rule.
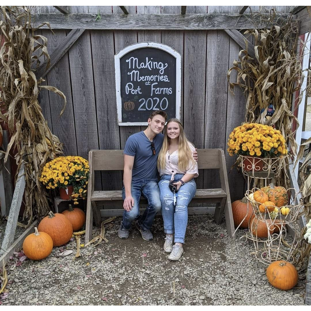
[[[161,133],[167,114],[162,110],[154,111],[148,118],[145,131],[128,137],[124,148],[123,174],[123,220],[118,230],[120,239],[127,239],[132,221],[142,234],[142,238],[151,241],[150,231],[156,213],[161,210],[160,190],[158,187],[157,159],[163,143]],[[139,217],[139,199],[144,195],[148,206]]]

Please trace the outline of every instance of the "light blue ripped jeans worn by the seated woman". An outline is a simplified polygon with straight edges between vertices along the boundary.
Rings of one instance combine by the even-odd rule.
[[[178,181],[184,174],[175,174],[175,181]],[[184,183],[176,193],[176,207],[174,213],[174,194],[169,189],[171,175],[162,175],[159,181],[160,199],[162,203],[162,216],[164,232],[174,234],[174,243],[184,243],[188,223],[188,204],[197,190],[194,179]]]

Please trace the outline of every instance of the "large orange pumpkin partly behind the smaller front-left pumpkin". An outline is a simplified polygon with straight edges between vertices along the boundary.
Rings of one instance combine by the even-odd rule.
[[[72,224],[68,218],[62,214],[49,212],[38,226],[38,230],[49,234],[53,240],[53,246],[61,246],[67,243],[72,237]]]

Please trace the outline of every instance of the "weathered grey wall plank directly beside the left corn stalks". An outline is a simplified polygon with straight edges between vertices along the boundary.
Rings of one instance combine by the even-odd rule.
[[[45,12],[55,12],[54,7],[46,7]],[[42,35],[48,39],[48,52],[53,54],[55,49],[66,40],[65,30],[55,30],[55,35],[50,30],[42,30]],[[68,55],[68,54],[67,54]],[[64,155],[77,155],[77,138],[75,131],[75,118],[72,105],[71,79],[68,56],[61,58],[46,75],[46,84],[55,86],[62,91],[67,99],[64,113],[59,117],[64,106],[64,100],[54,92],[40,91],[40,105],[44,117],[50,120],[49,128],[64,144]]]

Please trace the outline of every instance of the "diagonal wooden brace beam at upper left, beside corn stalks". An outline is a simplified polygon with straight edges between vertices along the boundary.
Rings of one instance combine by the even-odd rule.
[[[58,63],[58,61],[67,53],[67,51],[72,47],[72,45],[77,41],[77,39],[83,34],[85,29],[73,29],[66,36],[65,40],[54,50],[50,56],[50,67],[46,70],[46,64],[48,60],[42,63],[37,72],[37,79],[45,77],[48,72]]]

